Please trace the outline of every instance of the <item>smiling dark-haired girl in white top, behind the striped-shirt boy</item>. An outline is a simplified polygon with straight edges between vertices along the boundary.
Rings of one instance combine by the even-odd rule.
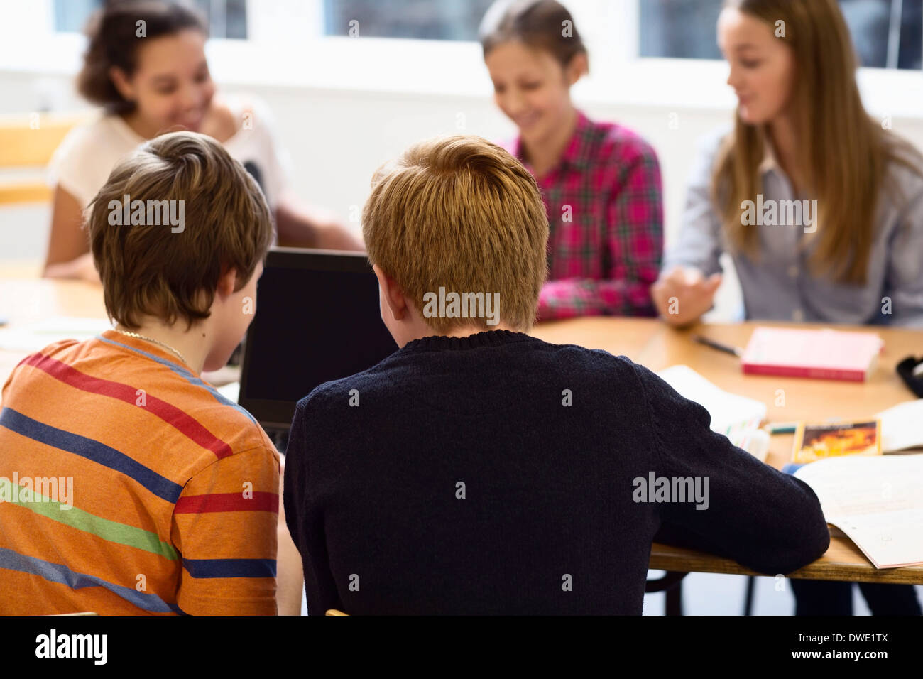
[[[266,194],[281,245],[364,249],[330,214],[296,206],[266,108],[216,96],[205,57],[207,31],[197,14],[156,0],[112,3],[92,19],[88,33],[78,91],[101,104],[103,113],[71,131],[54,154],[46,276],[98,280],[81,228],[84,208],[122,157],[178,129],[218,139],[244,164]]]

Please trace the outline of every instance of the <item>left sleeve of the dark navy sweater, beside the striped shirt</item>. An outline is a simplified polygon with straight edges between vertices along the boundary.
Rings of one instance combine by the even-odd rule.
[[[312,450],[307,435],[306,403],[306,400],[298,403],[289,430],[282,503],[285,523],[305,569],[307,614],[324,615],[331,608],[342,611],[343,605],[330,570],[323,512],[312,492],[310,461],[317,451]]]

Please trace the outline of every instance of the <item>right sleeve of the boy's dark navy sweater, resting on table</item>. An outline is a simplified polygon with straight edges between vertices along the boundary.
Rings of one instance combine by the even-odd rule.
[[[712,431],[705,408],[650,370],[636,365],[635,372],[650,420],[656,474],[700,479],[705,491],[703,503],[654,504],[661,520],[654,540],[710,552],[769,575],[796,571],[827,551],[830,531],[806,483]]]

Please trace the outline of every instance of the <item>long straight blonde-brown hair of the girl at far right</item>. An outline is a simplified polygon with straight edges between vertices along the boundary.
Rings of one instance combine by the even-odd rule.
[[[896,161],[919,170],[918,153],[871,118],[856,83],[857,58],[836,0],[725,0],[725,7],[773,28],[795,57],[793,105],[797,165],[818,200],[810,265],[841,283],[864,285],[885,176]],[[759,167],[766,131],[736,116],[713,169],[712,196],[733,249],[759,257],[759,231],[742,223],[741,204],[762,192]]]

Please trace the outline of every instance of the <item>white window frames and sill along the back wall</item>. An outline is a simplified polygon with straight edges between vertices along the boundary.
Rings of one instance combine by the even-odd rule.
[[[733,109],[725,62],[638,56],[639,31],[634,27],[640,2],[569,0],[591,55],[591,73],[575,86],[574,100],[657,107],[666,113]],[[10,18],[8,35],[0,34],[0,72],[77,73],[86,40],[78,33],[54,31],[53,0],[2,0],[0,10]],[[247,0],[250,37],[209,41],[213,77],[236,88],[272,85],[424,96],[493,94],[476,42],[326,36],[321,34],[322,12],[322,0]],[[45,48],[36,50],[36,44]],[[422,50],[426,58],[420,57]],[[858,81],[869,113],[923,119],[923,107],[916,104],[923,101],[920,75],[912,70],[861,68]]]

